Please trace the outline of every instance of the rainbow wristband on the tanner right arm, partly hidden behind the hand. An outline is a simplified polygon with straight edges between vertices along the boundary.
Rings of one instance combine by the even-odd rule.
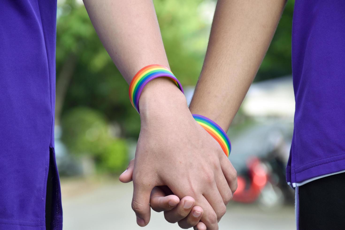
[[[220,144],[221,149],[223,149],[225,155],[229,157],[231,152],[231,143],[228,135],[218,124],[216,124],[211,119],[201,116],[199,114],[192,114],[193,118],[203,127],[216,141]]]

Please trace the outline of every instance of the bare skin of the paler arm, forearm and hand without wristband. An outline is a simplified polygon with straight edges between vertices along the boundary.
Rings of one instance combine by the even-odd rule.
[[[84,0],[84,4],[128,83],[149,64],[169,67],[151,0]],[[217,221],[226,211],[224,203],[232,196],[230,186],[237,183],[235,169],[218,143],[195,122],[184,95],[170,80],[149,82],[139,107],[141,129],[132,171],[132,209],[138,225],[146,226],[150,220],[152,189],[168,186],[179,202],[193,203],[185,213],[202,207],[201,222],[207,229],[218,229]],[[181,205],[176,209],[181,210]],[[166,218],[172,222],[181,216],[167,211]],[[183,225],[184,218],[176,222]]]

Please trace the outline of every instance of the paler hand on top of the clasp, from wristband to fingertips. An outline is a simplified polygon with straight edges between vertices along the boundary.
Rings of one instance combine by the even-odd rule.
[[[133,171],[132,209],[139,226],[150,220],[150,193],[168,186],[180,199],[191,196],[204,210],[201,221],[218,229],[237,188],[236,170],[193,118],[179,89],[165,78],[147,84],[139,100],[141,129]]]

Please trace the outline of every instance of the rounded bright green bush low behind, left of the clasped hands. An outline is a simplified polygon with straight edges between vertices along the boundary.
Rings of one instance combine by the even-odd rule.
[[[73,154],[89,154],[100,170],[118,173],[128,163],[125,140],[110,135],[102,114],[89,108],[75,108],[62,120],[62,141]]]

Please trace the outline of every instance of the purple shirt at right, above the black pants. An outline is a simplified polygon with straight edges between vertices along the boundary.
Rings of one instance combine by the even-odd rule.
[[[292,30],[296,111],[287,181],[345,170],[345,1],[296,0]]]

